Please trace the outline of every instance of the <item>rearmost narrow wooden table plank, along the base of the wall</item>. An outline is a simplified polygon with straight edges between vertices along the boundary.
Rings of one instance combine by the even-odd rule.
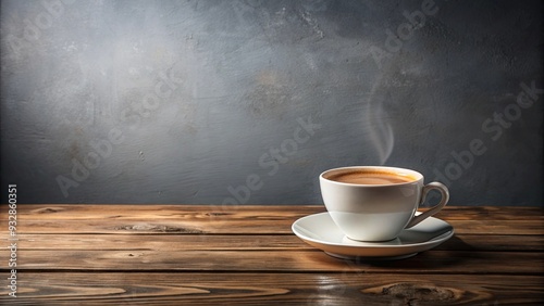
[[[7,205],[0,205],[2,212]],[[129,207],[129,208],[128,208]],[[17,215],[27,219],[152,219],[209,218],[298,218],[325,212],[323,205],[124,205],[124,204],[20,204]],[[425,211],[425,208],[422,208]],[[544,220],[542,207],[517,206],[446,206],[436,216],[450,220]]]

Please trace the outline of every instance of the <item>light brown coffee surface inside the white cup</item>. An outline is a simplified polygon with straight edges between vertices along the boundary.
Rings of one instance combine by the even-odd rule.
[[[358,184],[392,184],[415,181],[416,178],[386,171],[374,170],[355,170],[339,174],[333,174],[325,177],[337,182],[358,183]]]

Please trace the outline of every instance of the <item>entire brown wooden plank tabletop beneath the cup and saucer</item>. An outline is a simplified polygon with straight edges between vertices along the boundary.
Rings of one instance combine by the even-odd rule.
[[[2,305],[544,303],[535,207],[447,207],[436,217],[455,237],[374,263],[331,257],[293,234],[295,220],[323,206],[20,204],[15,252],[1,208]]]

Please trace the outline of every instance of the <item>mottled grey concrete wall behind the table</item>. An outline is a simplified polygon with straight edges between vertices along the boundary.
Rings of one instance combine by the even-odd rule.
[[[1,1],[20,203],[318,204],[392,165],[542,205],[541,1]]]

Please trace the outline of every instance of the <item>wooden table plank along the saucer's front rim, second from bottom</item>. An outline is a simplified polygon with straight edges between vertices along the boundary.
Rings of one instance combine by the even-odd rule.
[[[8,251],[0,258],[8,258]],[[507,263],[507,264],[506,264]],[[404,260],[347,265],[321,251],[25,251],[17,270],[353,271],[405,273],[544,273],[542,253],[428,251]],[[7,264],[2,264],[7,269]]]

